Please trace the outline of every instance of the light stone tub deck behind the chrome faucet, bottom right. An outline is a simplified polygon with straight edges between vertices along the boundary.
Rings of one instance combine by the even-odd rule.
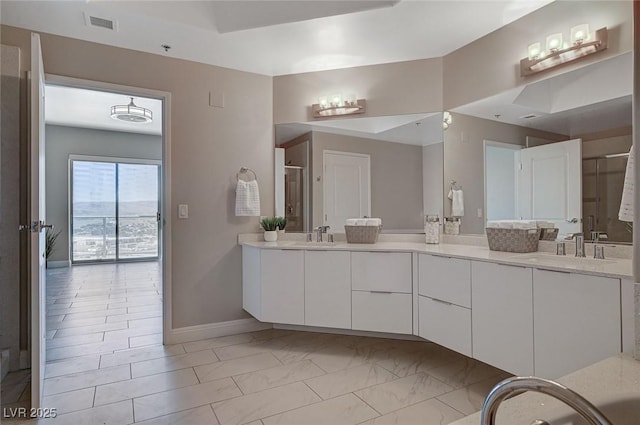
[[[596,407],[606,407],[615,400],[640,398],[640,362],[620,354],[580,369],[557,380],[585,397]],[[615,424],[614,412],[603,409]],[[525,393],[503,402],[496,425],[530,424],[534,419],[551,420],[574,413],[571,408],[549,396]],[[480,412],[451,425],[478,425]],[[564,423],[564,422],[563,422]],[[625,422],[623,422],[625,423]]]

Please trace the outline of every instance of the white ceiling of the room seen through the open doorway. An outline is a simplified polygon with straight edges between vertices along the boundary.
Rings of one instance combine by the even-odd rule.
[[[134,97],[137,106],[150,109],[153,122],[131,123],[111,118],[113,105],[126,105],[126,94],[47,85],[44,118],[47,124],[127,133],[162,134],[162,101]]]

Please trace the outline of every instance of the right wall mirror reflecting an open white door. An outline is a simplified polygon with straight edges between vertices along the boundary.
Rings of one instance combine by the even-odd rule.
[[[603,232],[630,243],[618,209],[632,145],[632,75],[628,53],[452,109],[445,216],[455,181],[464,194],[461,233],[482,234],[487,220],[536,219],[561,234]]]

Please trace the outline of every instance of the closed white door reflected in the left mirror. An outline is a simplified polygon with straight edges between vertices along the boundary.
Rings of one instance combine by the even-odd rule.
[[[336,233],[347,218],[371,216],[369,155],[324,151],[324,220]]]

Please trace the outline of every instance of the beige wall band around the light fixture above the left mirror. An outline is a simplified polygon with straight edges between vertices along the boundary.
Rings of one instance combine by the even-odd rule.
[[[354,93],[367,100],[360,116],[442,111],[442,59],[423,59],[273,79],[273,121],[311,121],[318,97]]]

